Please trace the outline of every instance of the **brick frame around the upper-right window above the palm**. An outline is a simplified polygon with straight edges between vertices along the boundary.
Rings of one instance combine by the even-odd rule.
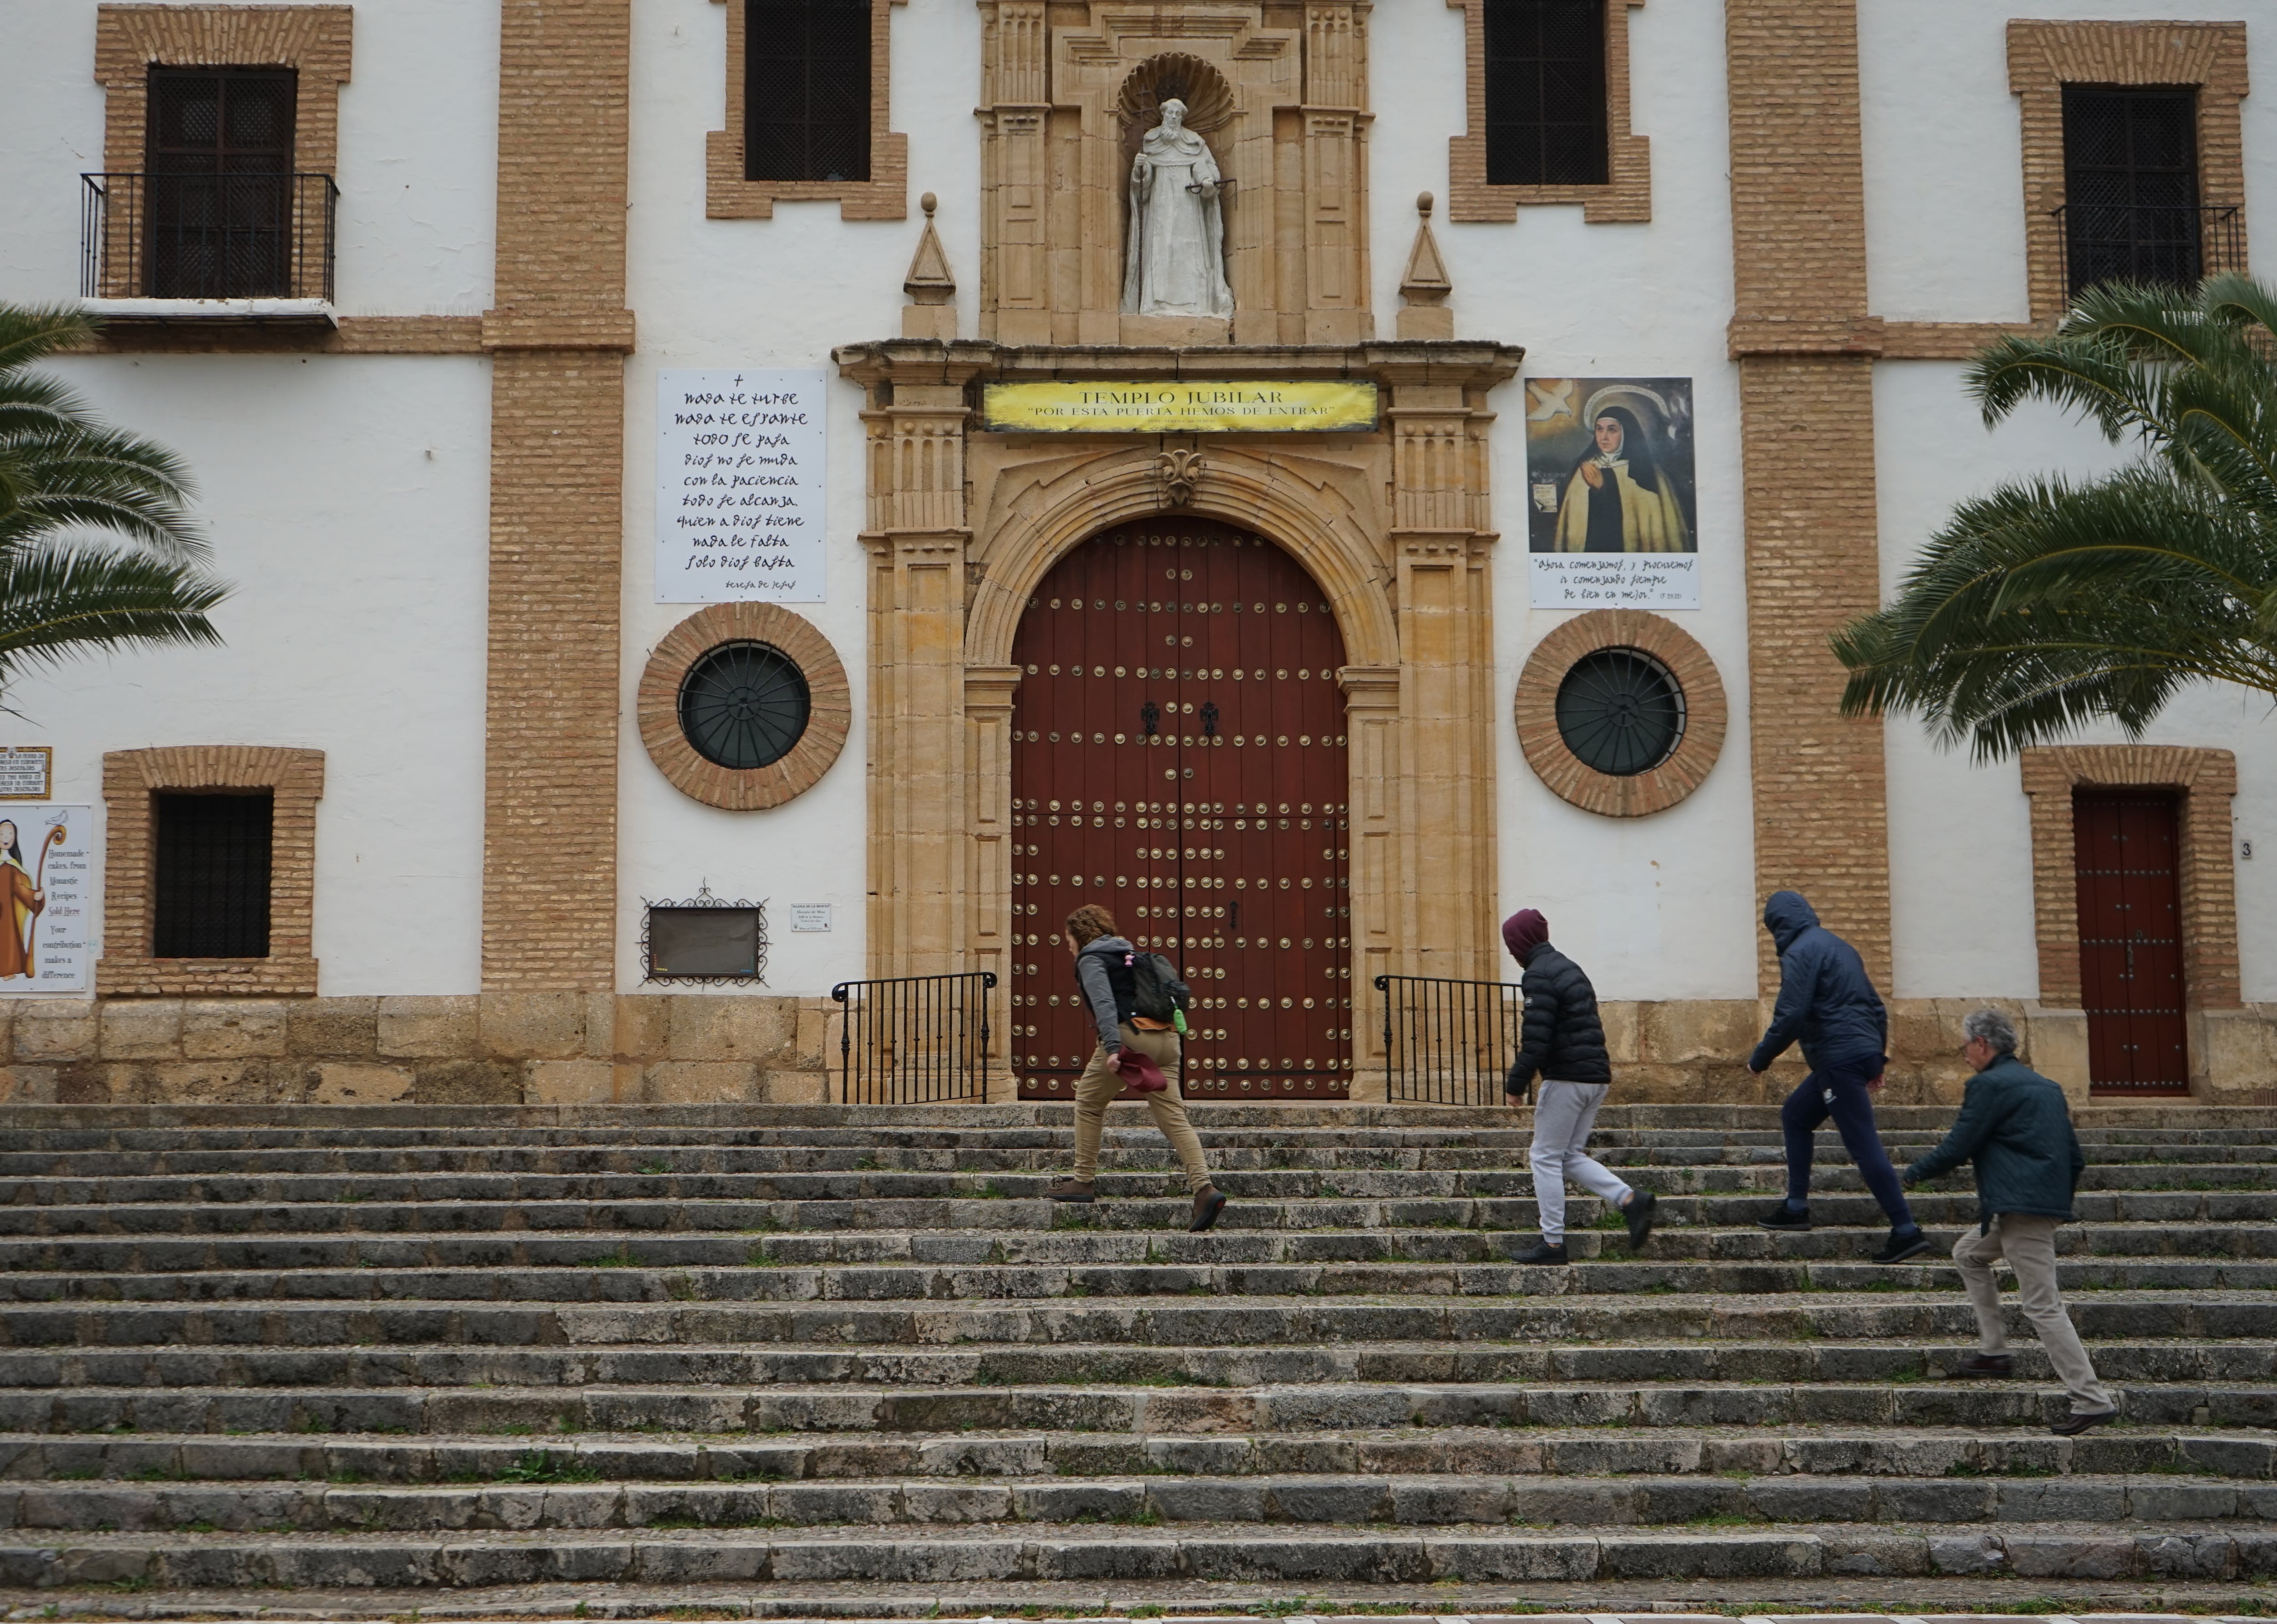
[[[2245,248],[2245,134],[2238,100],[2245,80],[2245,23],[2008,23],[2008,89],[2024,116],[2024,264],[2031,319],[2056,321],[2063,244],[2054,210],[2063,205],[2065,84],[2195,84],[2197,196],[2238,207]],[[2070,861],[2070,859],[2065,859]]]

